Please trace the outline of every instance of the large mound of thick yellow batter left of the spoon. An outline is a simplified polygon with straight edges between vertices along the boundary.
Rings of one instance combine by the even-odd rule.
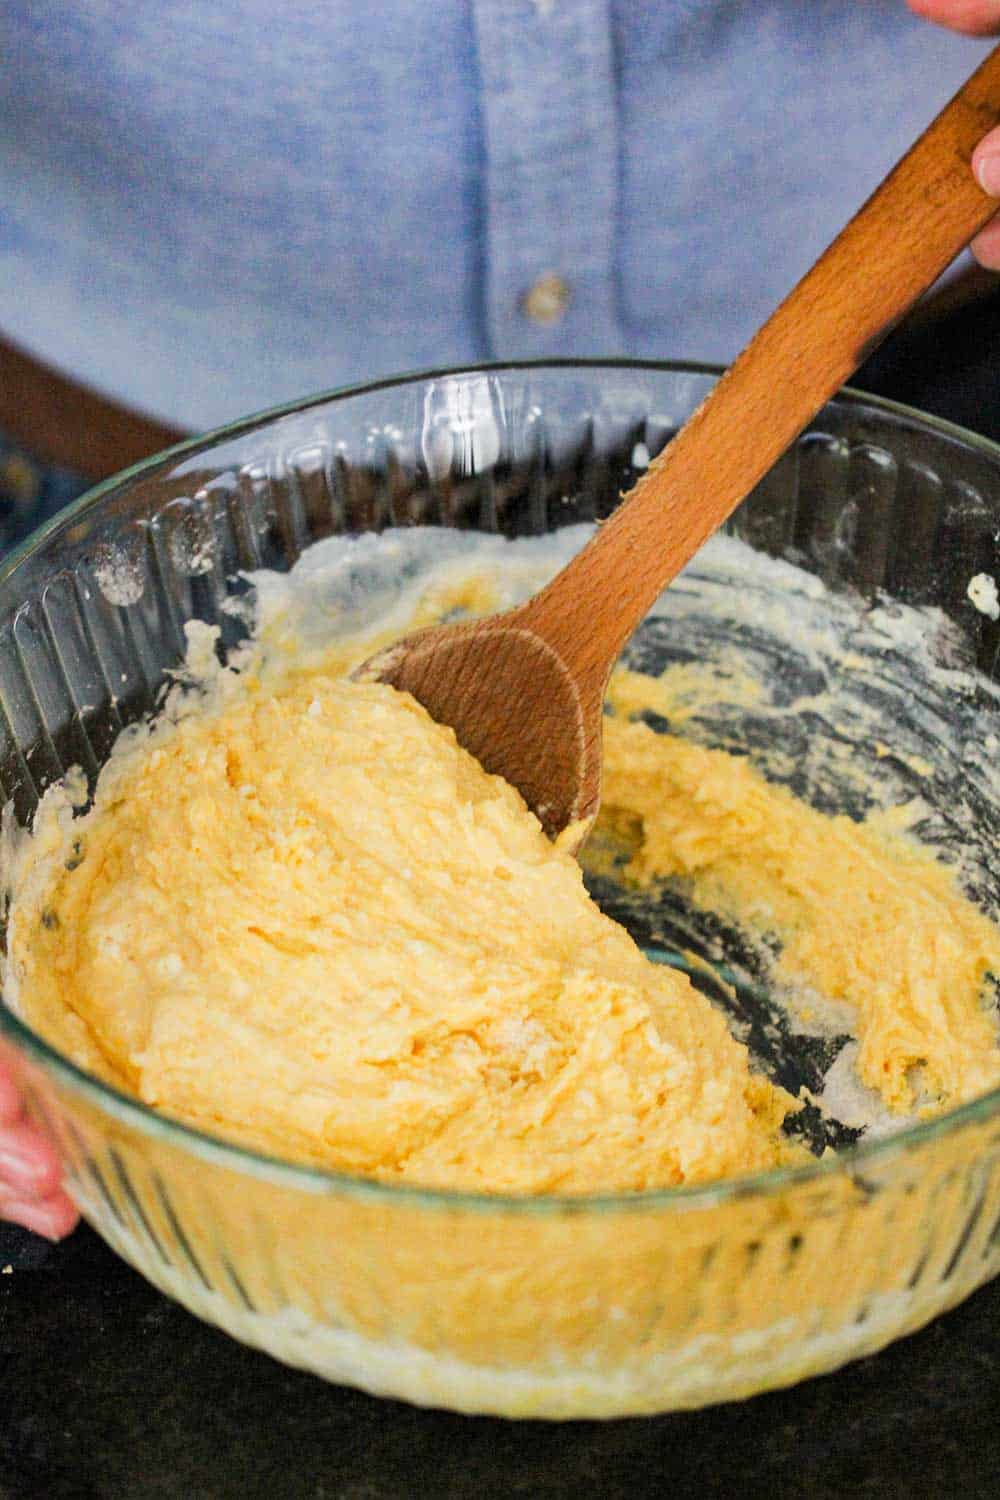
[[[73,834],[78,862],[19,915],[27,1012],[64,1008],[169,1114],[493,1191],[786,1155],[790,1100],[723,1017],[393,688],[252,682],[112,762]]]

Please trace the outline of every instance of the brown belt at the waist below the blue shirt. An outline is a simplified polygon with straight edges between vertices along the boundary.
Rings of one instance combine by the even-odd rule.
[[[967,267],[910,314],[907,330],[996,294],[997,278]],[[99,396],[0,338],[0,432],[46,464],[88,480],[106,478],[184,434]]]

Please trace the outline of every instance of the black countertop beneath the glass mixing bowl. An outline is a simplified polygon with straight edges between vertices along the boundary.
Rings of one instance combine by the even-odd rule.
[[[3,1500],[949,1500],[1000,1494],[1000,1280],[735,1406],[618,1422],[420,1412],[324,1384],[154,1292],[87,1228],[0,1226]]]

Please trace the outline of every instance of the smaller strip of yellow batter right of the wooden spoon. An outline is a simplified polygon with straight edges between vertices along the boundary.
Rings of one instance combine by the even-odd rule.
[[[655,688],[621,672],[610,696],[636,710]],[[858,1072],[889,1108],[934,1110],[1000,1083],[984,993],[1000,975],[1000,930],[898,818],[826,818],[745,759],[622,717],[606,724],[603,794],[606,820],[639,822],[634,879],[685,878],[699,906],[780,939],[790,993],[847,1002]]]

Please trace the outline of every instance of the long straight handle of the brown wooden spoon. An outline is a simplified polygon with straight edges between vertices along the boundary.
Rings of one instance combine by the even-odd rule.
[[[970,159],[999,122],[1000,48],[763,324],[597,537],[525,608],[577,680],[603,693],[607,669],[660,591],[997,212]]]

